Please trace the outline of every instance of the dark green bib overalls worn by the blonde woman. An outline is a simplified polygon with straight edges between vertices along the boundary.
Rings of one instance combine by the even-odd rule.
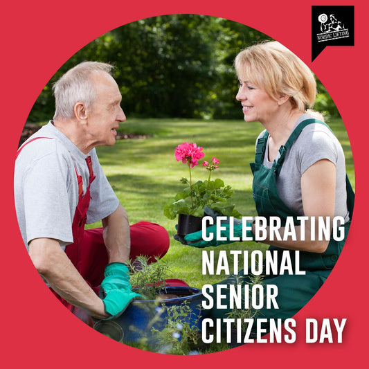
[[[301,122],[296,129],[291,133],[287,143],[280,147],[280,156],[273,163],[272,168],[266,168],[262,165],[264,160],[265,149],[267,147],[268,132],[258,140],[256,145],[255,163],[251,163],[253,172],[253,198],[255,200],[256,210],[259,216],[280,217],[282,225],[286,221],[286,217],[294,217],[294,223],[299,224],[296,214],[280,199],[276,185],[276,177],[280,173],[285,154],[289,147],[294,143],[300,132],[309,124],[325,123],[321,120],[307,119]],[[352,209],[354,204],[354,192],[346,176],[346,190],[348,193],[348,210],[350,219],[352,217]],[[276,285],[278,287],[278,296],[276,301],[278,309],[267,309],[266,307],[258,310],[257,318],[282,318],[285,321],[296,314],[306,303],[316,294],[316,291],[323,285],[325,280],[336,264],[339,255],[342,251],[343,244],[348,235],[350,222],[345,224],[345,238],[342,241],[335,241],[331,238],[327,250],[324,253],[309,253],[300,251],[300,270],[305,271],[305,275],[282,274],[264,276],[262,282],[265,285]],[[270,246],[269,250],[276,250],[279,253],[279,260],[282,256],[282,251],[287,251],[276,246]],[[289,251],[292,264],[294,264],[294,251]],[[236,282],[237,281],[237,282]],[[219,284],[245,284],[250,283],[250,276],[244,276],[244,271],[240,271],[238,276],[230,276]],[[230,309],[216,309],[210,312],[212,318],[225,318]]]

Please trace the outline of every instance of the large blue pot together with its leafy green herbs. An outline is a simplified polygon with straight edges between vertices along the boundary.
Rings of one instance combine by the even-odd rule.
[[[98,321],[94,329],[109,338],[147,351],[174,353],[201,332],[201,289],[168,286],[168,264],[141,255],[130,264],[135,299],[113,321]],[[180,341],[180,343],[179,343]]]

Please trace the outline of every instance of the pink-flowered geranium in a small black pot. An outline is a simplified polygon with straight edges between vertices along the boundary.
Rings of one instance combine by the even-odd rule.
[[[236,218],[242,215],[235,209],[232,200],[233,190],[226,186],[222,179],[211,180],[211,173],[219,168],[219,160],[215,157],[209,163],[204,161],[202,167],[208,170],[208,178],[205,181],[192,181],[192,168],[199,165],[199,159],[204,157],[203,148],[196,143],[182,143],[175,149],[174,155],[177,161],[188,165],[190,177],[182,177],[183,190],[174,196],[164,207],[164,215],[169,219],[178,216],[177,233],[186,235],[201,230],[201,218],[204,216],[204,208],[208,207],[221,215]]]

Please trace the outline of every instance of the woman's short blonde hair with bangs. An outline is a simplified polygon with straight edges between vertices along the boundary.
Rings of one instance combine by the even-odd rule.
[[[314,105],[316,82],[312,71],[279,42],[262,42],[244,49],[235,58],[235,70],[276,100],[281,94],[290,96],[292,107],[300,111]]]

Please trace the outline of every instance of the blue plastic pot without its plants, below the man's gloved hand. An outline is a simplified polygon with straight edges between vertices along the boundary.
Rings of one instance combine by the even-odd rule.
[[[134,300],[121,316],[114,321],[100,321],[94,326],[94,329],[116,341],[127,344],[145,341],[147,345],[155,347],[158,339],[156,334],[151,331],[152,327],[161,332],[165,327],[165,318],[168,317],[166,307],[186,302],[191,312],[186,318],[186,323],[201,330],[201,318],[199,318],[201,316],[201,289],[168,286],[162,293],[170,298],[165,300]],[[114,325],[108,322],[114,322]]]

